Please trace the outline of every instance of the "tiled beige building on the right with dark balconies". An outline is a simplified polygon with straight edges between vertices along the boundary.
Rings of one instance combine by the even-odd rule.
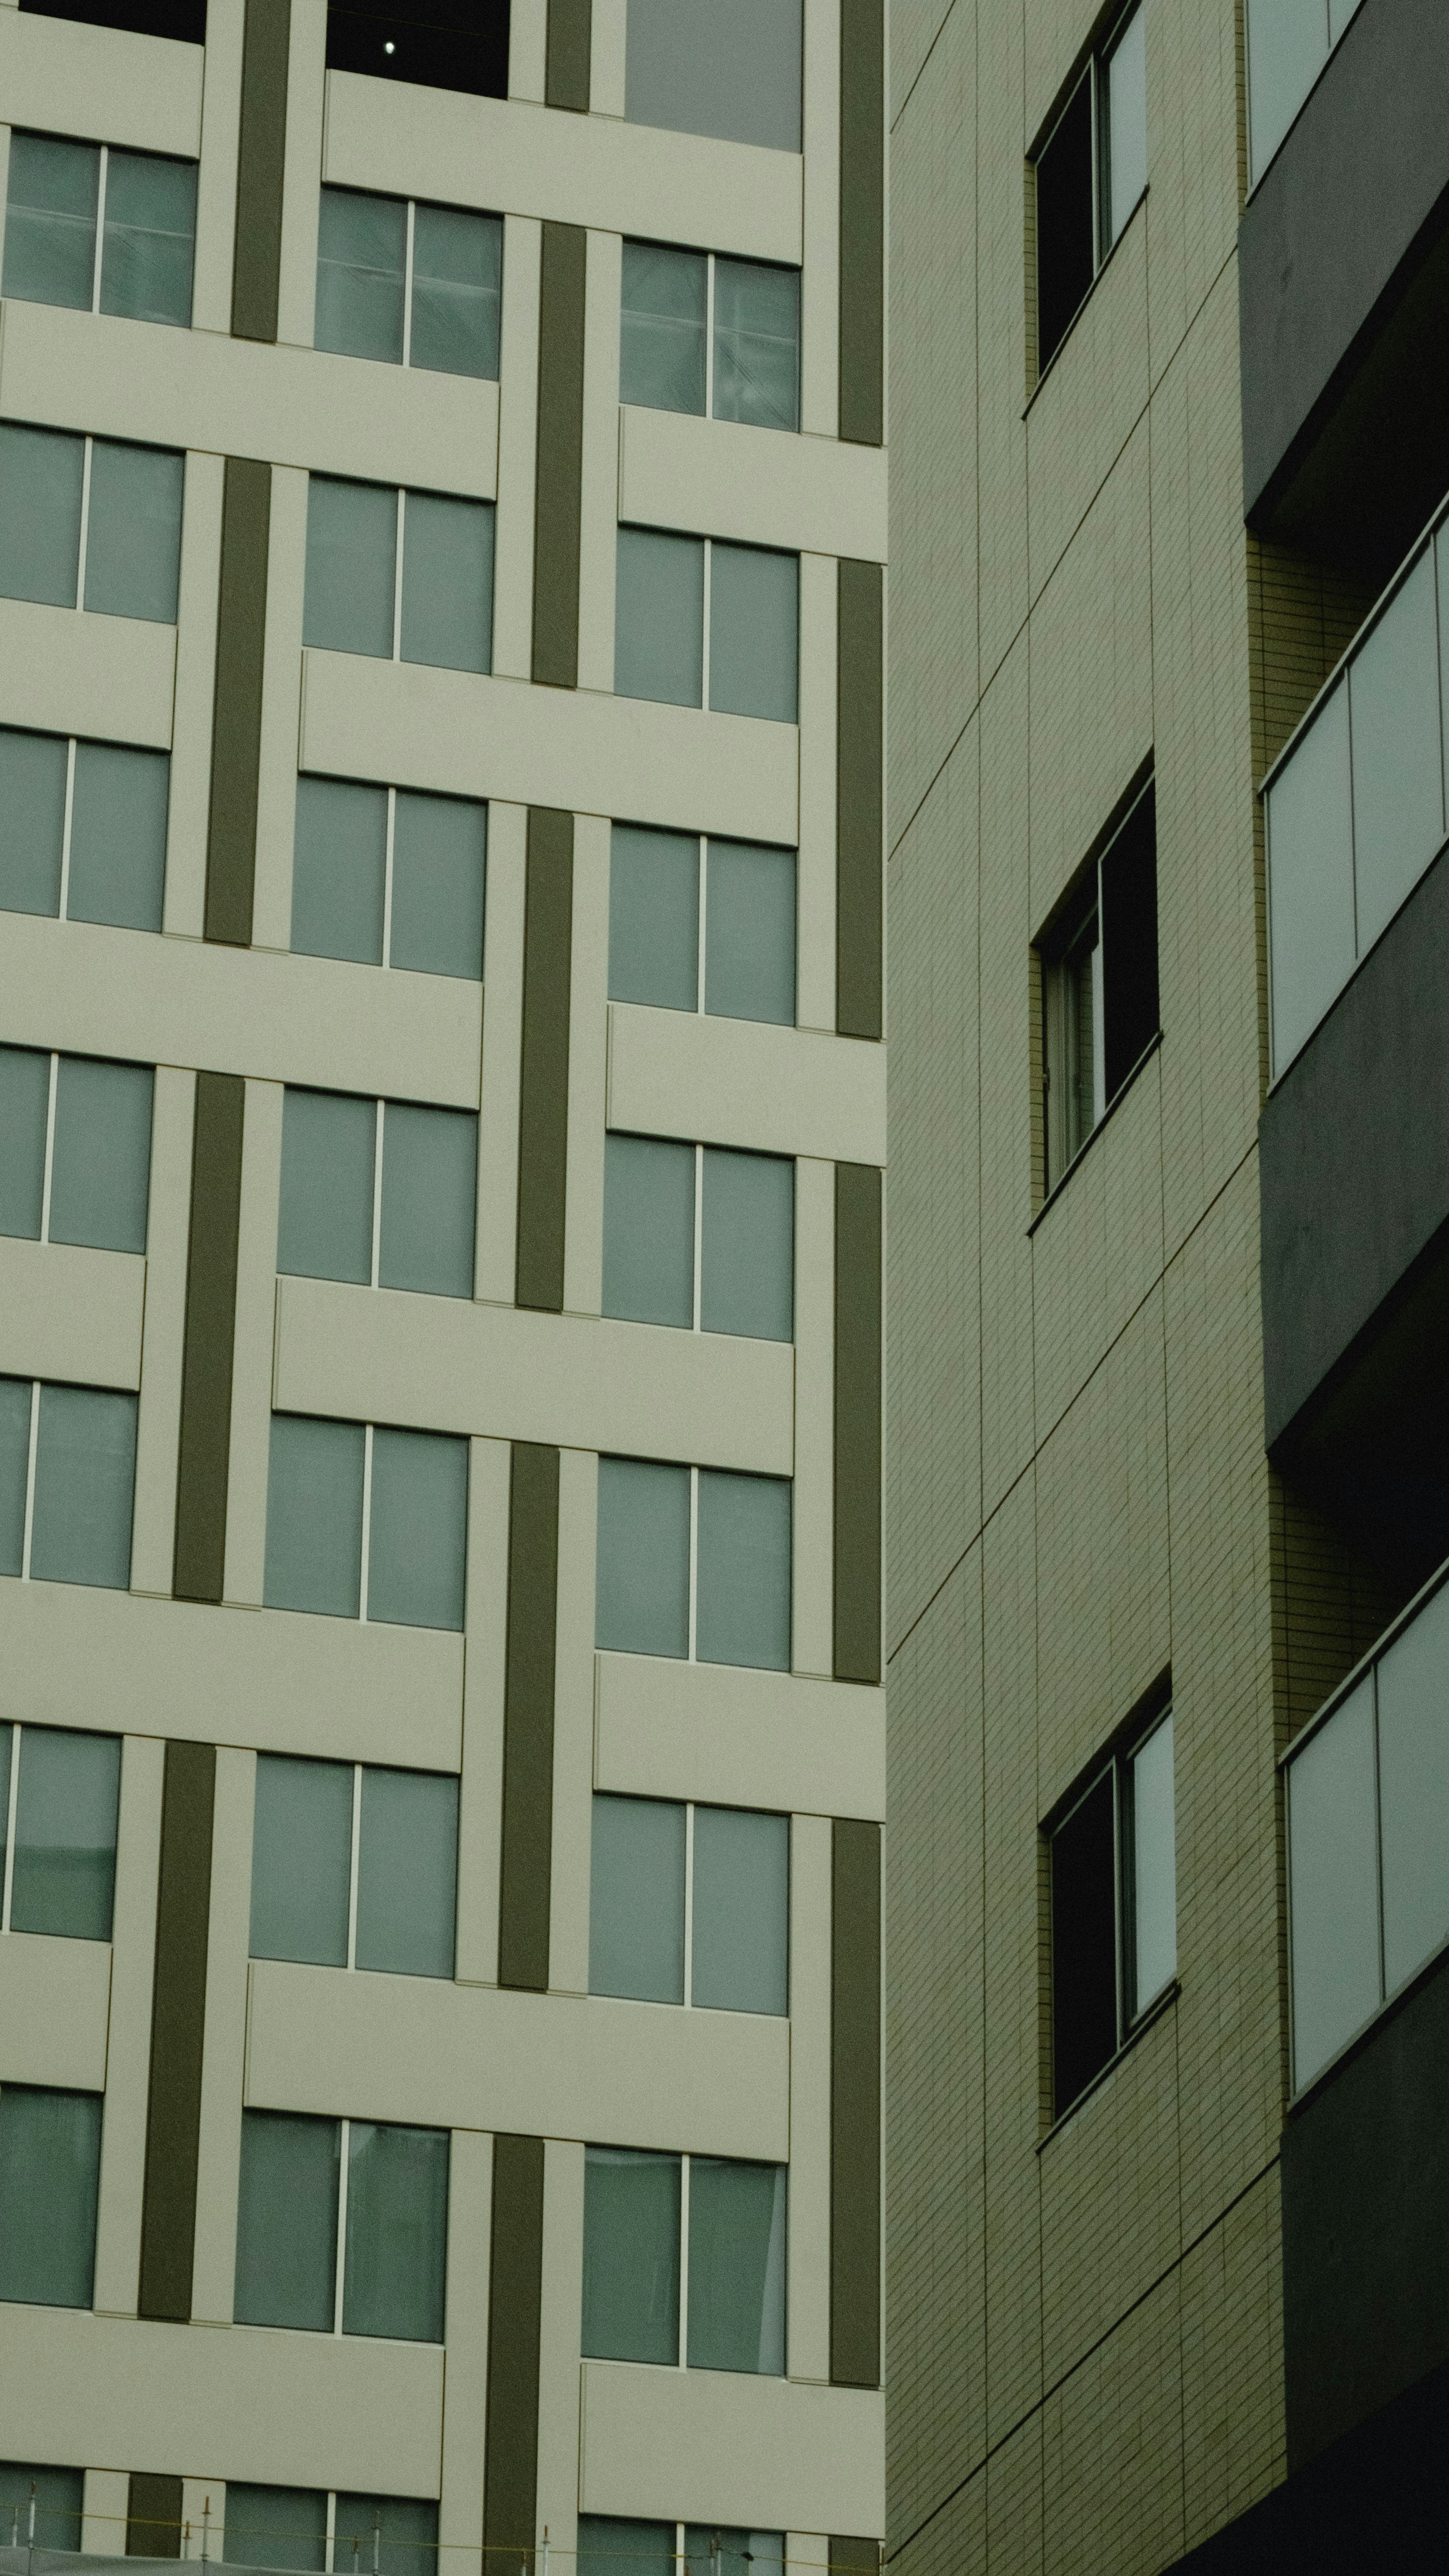
[[[890,2555],[1421,2566],[1449,31],[892,28]]]

